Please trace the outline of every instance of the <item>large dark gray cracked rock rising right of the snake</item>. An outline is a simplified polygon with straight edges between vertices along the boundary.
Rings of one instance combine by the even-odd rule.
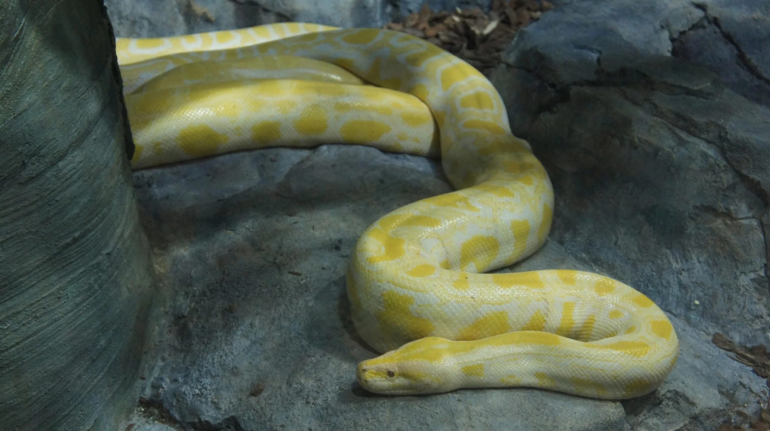
[[[701,330],[768,343],[770,110],[671,58],[668,35],[701,8],[600,20],[606,5],[544,14],[493,76],[554,181],[551,238]]]

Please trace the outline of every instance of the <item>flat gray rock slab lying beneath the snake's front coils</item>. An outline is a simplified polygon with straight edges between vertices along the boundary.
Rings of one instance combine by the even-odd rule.
[[[172,429],[701,429],[755,413],[764,382],[672,317],[663,386],[619,403],[544,390],[375,396],[376,356],[350,323],[344,273],[374,220],[450,191],[435,161],[328,145],[270,149],[134,174],[160,275],[146,399]],[[511,268],[583,268],[549,241]],[[157,413],[154,412],[154,413]]]

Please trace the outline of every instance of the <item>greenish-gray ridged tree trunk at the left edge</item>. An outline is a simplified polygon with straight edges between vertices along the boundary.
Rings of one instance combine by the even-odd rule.
[[[136,403],[152,265],[113,45],[101,0],[0,2],[2,429]]]

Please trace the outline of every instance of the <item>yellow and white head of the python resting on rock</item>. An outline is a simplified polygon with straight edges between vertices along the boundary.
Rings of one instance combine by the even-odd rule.
[[[445,358],[435,356],[436,349],[430,343],[428,339],[413,341],[400,349],[359,363],[356,373],[358,383],[369,392],[387,395],[441,393],[457,389],[459,382],[454,373],[449,372],[453,367]]]

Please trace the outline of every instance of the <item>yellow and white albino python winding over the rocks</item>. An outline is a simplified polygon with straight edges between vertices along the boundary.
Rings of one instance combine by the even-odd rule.
[[[490,81],[427,41],[276,24],[116,41],[132,167],[272,146],[365,144],[441,157],[457,188],[377,220],[346,277],[353,323],[383,353],[374,393],[533,386],[604,399],[654,390],[678,356],[666,315],[576,270],[480,274],[534,253],[554,196]]]

